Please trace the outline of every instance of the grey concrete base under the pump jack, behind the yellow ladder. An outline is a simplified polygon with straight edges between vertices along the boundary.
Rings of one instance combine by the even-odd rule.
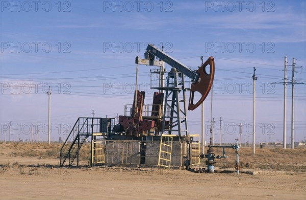
[[[188,141],[190,137],[173,137],[170,167],[185,168],[190,163]],[[160,147],[161,141],[156,137],[155,140],[105,140],[105,164],[158,166]]]

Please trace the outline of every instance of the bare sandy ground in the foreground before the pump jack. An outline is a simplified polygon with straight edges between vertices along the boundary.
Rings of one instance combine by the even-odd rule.
[[[306,199],[305,172],[259,170],[255,175],[236,175],[161,168],[37,167],[57,165],[59,160],[10,157],[1,150],[1,200]]]

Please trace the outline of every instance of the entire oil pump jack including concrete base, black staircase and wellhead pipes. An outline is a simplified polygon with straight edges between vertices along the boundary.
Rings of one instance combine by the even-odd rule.
[[[239,174],[238,140],[232,146],[212,146],[211,142],[207,154],[203,154],[199,153],[199,135],[189,134],[187,130],[185,92],[190,91],[189,110],[194,110],[205,100],[214,79],[214,58],[209,57],[194,71],[153,45],[147,46],[144,57],[136,57],[137,69],[138,64],[160,67],[160,70],[151,71],[151,75],[160,75],[159,84],[151,87],[159,91],[154,93],[152,104],[144,105],[145,92],[138,91],[136,87],[130,115],[127,115],[125,105],[124,115],[119,116],[117,125],[114,125],[114,118],[78,118],[61,148],[61,166],[66,162],[71,166],[74,159],[79,165],[79,150],[91,137],[92,165],[121,163],[140,166],[158,163],[158,166],[168,168],[171,165],[183,168],[198,166],[199,172],[214,172],[215,158],[227,158],[224,148],[233,148],[237,154],[236,168]],[[172,67],[167,74],[166,85],[164,63]],[[190,88],[185,87],[185,76],[192,82]],[[200,94],[197,102],[194,102],[195,93]],[[213,148],[223,148],[223,155],[216,156]],[[200,159],[204,158],[208,159],[207,169],[200,168]]]

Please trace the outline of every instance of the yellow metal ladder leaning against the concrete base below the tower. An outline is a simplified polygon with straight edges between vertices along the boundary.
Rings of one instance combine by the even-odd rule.
[[[159,166],[170,168],[173,137],[176,137],[176,135],[162,134],[158,159]]]

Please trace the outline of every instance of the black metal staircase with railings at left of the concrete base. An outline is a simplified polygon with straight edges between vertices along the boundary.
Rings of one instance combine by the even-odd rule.
[[[78,118],[61,148],[60,166],[63,166],[65,163],[71,166],[75,159],[77,159],[78,166],[80,149],[87,138],[91,137],[93,141],[97,134],[106,136],[115,124],[114,121],[114,118]],[[92,146],[91,149],[93,149],[93,147],[94,146]],[[93,151],[91,151],[91,155],[92,154]],[[91,164],[93,163],[92,158],[91,156]]]

